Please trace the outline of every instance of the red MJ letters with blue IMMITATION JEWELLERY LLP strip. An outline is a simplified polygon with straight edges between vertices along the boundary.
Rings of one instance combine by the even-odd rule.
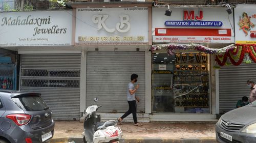
[[[223,23],[221,21],[201,21],[203,19],[203,11],[199,11],[198,15],[195,15],[195,11],[183,11],[183,21],[165,21],[165,26],[204,26],[204,27],[221,27]],[[188,20],[188,21],[187,21]],[[198,20],[198,21],[193,21]]]

